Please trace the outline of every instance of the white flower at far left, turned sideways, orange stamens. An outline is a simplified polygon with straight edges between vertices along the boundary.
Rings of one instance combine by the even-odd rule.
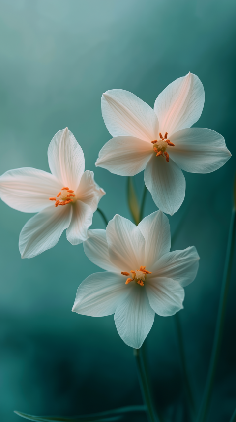
[[[85,171],[82,148],[65,128],[56,133],[48,148],[52,172],[17,168],[0,176],[0,198],[10,207],[38,213],[23,227],[19,249],[32,258],[55,246],[65,228],[72,245],[88,238],[92,215],[105,192]]]

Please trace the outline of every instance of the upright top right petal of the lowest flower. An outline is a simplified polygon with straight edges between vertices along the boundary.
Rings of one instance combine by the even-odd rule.
[[[145,238],[145,264],[147,270],[171,249],[169,220],[162,211],[156,211],[145,217],[138,228]]]

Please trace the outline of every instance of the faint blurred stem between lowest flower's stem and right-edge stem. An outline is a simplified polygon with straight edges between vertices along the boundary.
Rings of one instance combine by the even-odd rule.
[[[190,386],[190,382],[189,382],[189,376],[188,376],[186,358],[185,358],[185,352],[184,352],[183,334],[182,334],[182,328],[181,328],[178,313],[174,315],[174,320],[175,320],[175,324],[176,324],[178,346],[179,346],[179,355],[180,355],[180,360],[181,360],[181,365],[182,365],[184,386],[185,386],[186,394],[188,396],[188,401],[189,401],[189,404],[190,404],[191,415],[193,417],[196,414],[196,408],[195,408],[193,394],[192,394],[192,390],[191,390],[191,386]]]

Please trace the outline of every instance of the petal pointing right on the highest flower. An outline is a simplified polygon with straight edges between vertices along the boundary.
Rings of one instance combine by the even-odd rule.
[[[205,128],[182,129],[171,136],[175,147],[168,148],[177,165],[190,173],[210,173],[231,157],[223,136]]]

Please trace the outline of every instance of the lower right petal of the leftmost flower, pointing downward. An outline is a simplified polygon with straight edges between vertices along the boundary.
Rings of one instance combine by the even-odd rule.
[[[72,245],[78,245],[88,239],[88,228],[92,224],[93,212],[89,205],[79,200],[71,208],[73,213],[71,223],[66,230],[66,237]]]

